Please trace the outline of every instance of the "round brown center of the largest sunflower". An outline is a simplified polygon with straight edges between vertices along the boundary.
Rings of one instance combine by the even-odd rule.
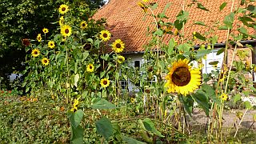
[[[186,86],[191,79],[190,70],[186,67],[178,67],[171,75],[172,81],[177,86]]]

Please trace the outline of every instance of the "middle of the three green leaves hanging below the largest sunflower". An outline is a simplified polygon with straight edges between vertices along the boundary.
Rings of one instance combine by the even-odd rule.
[[[202,90],[198,90],[195,94],[192,94],[192,97],[202,107],[206,115],[209,116],[209,99],[206,97],[206,94]]]

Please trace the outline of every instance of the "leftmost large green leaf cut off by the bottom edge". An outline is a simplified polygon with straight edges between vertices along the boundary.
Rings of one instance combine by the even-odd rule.
[[[78,126],[74,128],[71,126],[71,142],[74,144],[82,144],[83,143],[83,128],[82,126]]]

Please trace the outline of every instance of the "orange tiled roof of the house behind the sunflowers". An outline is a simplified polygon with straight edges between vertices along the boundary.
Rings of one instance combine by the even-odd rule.
[[[142,8],[138,6],[138,0],[110,0],[106,6],[103,6],[96,14],[94,14],[95,19],[106,18],[106,29],[110,30],[112,38],[110,42],[113,42],[117,38],[121,38],[126,44],[126,52],[137,52],[143,51],[143,45],[150,40],[146,36],[147,26],[154,22],[153,18],[150,16],[145,16]],[[155,14],[161,12],[167,2],[171,3],[171,6],[166,11],[166,16],[169,18],[165,22],[174,22],[176,20],[177,14],[182,10],[181,0],[158,0],[150,2],[158,2],[158,9],[154,10]],[[190,2],[190,1],[189,1]],[[227,1],[226,7],[220,11],[219,6],[225,2],[223,0],[202,0],[201,3],[210,11],[205,11],[196,8],[196,5],[191,7],[186,7],[186,11],[189,11],[190,19],[186,22],[184,35],[185,39],[191,39],[194,31],[200,34],[210,30],[214,22],[221,22],[227,14],[230,14],[231,1]],[[186,5],[189,3],[186,3]],[[254,2],[255,6],[256,2]],[[234,10],[238,8],[238,0],[234,3]],[[194,22],[201,21],[207,26],[193,25]],[[234,23],[237,23],[236,20]],[[235,25],[235,24],[234,24]],[[151,26],[152,27],[152,26]],[[255,30],[250,29],[250,34],[254,33]],[[214,30],[214,35],[218,35],[218,42],[226,42],[227,30]],[[170,34],[165,35],[166,42],[173,37]],[[203,42],[196,41],[195,45],[202,44]]]

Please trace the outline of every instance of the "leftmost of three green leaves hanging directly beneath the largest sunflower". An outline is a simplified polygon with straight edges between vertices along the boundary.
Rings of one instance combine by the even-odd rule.
[[[190,95],[187,95],[187,96],[178,96],[178,100],[179,100],[179,102],[182,103],[182,105],[184,106],[187,114],[189,114],[190,117],[191,117],[192,107],[194,105],[194,99],[191,98]]]

